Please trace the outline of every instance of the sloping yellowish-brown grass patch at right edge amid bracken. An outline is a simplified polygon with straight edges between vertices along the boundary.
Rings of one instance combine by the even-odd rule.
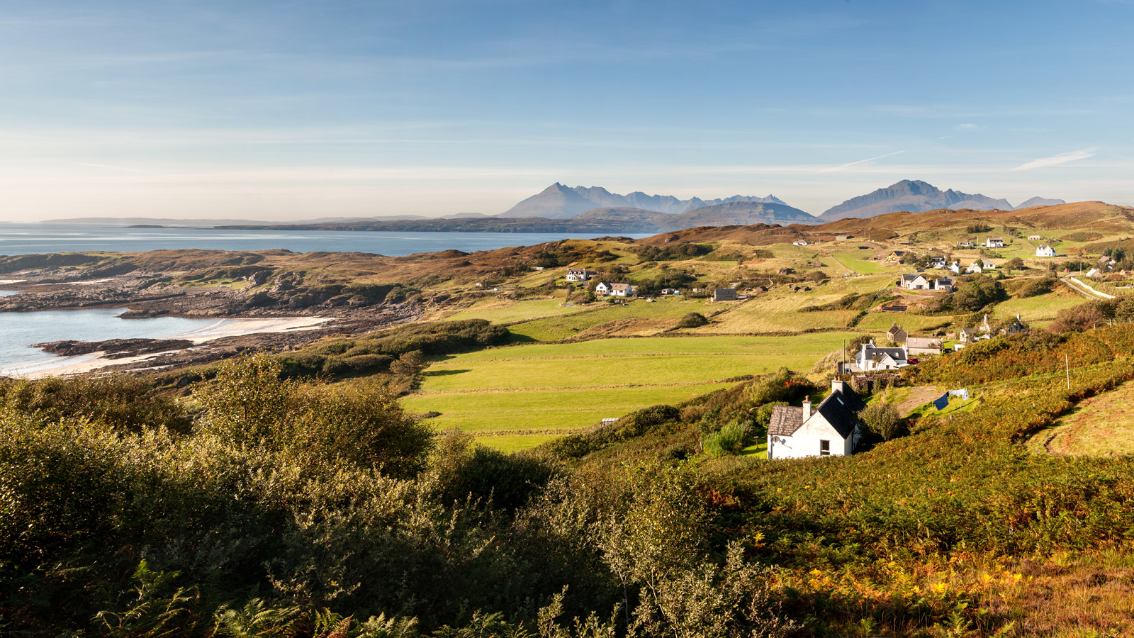
[[[1070,413],[1027,440],[1035,454],[1101,456],[1134,453],[1134,383],[1083,400]]]

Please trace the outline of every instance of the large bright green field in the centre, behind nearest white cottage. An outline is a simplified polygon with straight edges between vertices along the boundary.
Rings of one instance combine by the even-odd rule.
[[[793,337],[654,337],[524,344],[435,361],[405,397],[439,429],[523,450],[574,428],[728,387],[781,366],[810,370],[845,333]]]

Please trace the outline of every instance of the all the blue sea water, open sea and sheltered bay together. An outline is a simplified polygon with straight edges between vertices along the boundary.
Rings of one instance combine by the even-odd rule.
[[[648,235],[627,235],[645,237]],[[404,255],[459,250],[474,252],[532,245],[583,235],[553,233],[379,233],[369,230],[214,230],[211,228],[128,228],[104,225],[0,224],[0,255],[76,251],[210,249],[293,252],[367,252]],[[3,277],[0,275],[0,288]],[[0,296],[18,291],[0,289]],[[76,339],[169,338],[218,328],[217,319],[158,317],[121,319],[126,309],[0,312],[0,375],[18,376],[92,359],[62,358],[31,347],[34,343]],[[220,326],[222,327],[222,326]]]

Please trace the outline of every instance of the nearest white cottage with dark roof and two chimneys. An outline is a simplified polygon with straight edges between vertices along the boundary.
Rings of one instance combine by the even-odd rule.
[[[831,394],[818,406],[777,405],[768,425],[769,459],[847,456],[854,454],[861,433],[862,398],[840,379],[831,381]]]

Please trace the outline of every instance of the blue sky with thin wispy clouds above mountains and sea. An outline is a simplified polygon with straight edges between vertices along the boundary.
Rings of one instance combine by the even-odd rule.
[[[1134,0],[0,0],[0,221],[1134,204]]]

